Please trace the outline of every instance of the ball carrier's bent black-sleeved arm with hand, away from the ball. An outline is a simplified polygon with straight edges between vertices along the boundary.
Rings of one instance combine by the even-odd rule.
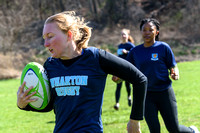
[[[101,68],[106,73],[115,75],[133,84],[133,104],[127,129],[128,131],[132,131],[132,129],[138,130],[139,120],[143,120],[144,116],[144,101],[147,90],[146,76],[130,62],[111,53],[100,50],[99,55]],[[134,122],[132,120],[134,120]]]

